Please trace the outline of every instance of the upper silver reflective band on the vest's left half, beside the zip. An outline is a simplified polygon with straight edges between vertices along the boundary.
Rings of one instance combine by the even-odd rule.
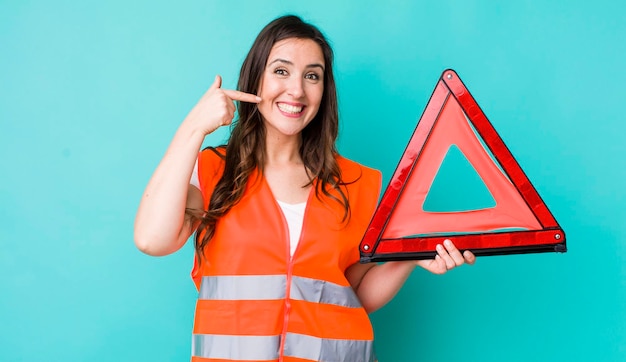
[[[222,275],[202,277],[199,299],[276,300],[285,299],[285,275]]]

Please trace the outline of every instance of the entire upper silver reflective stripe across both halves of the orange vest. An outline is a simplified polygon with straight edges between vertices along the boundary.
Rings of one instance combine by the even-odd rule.
[[[204,276],[199,298],[204,300],[276,300],[284,299],[285,275]],[[360,308],[352,287],[324,280],[293,276],[289,297],[313,303]]]

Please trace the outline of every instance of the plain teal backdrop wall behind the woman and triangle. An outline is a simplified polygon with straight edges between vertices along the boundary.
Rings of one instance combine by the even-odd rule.
[[[625,361],[624,4],[0,0],[0,360],[189,359],[193,248],[137,251],[138,201],[215,75],[296,13],[334,46],[344,155],[389,180],[453,68],[568,237],[415,270],[372,315],[380,360]]]

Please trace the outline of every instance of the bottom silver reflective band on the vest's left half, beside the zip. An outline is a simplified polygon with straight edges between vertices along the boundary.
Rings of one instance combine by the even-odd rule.
[[[280,336],[228,336],[194,334],[191,355],[236,361],[272,361],[278,359]]]

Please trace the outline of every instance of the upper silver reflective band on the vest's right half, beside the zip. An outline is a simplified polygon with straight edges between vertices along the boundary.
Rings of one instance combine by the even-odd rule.
[[[289,297],[308,302],[360,308],[361,302],[352,287],[304,277],[292,277]]]

